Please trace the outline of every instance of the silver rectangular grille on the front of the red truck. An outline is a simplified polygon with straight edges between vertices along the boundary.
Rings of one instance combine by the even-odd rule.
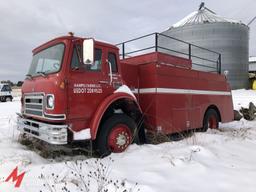
[[[34,116],[43,116],[43,98],[41,93],[35,93],[31,95],[25,95],[24,105],[25,114]]]

